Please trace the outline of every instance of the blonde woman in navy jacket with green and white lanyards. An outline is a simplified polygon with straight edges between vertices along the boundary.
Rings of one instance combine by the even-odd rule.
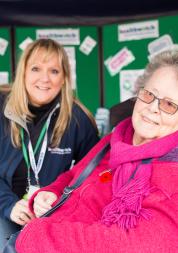
[[[27,198],[98,141],[93,117],[73,96],[66,52],[53,40],[28,45],[1,101],[0,248],[34,218]]]

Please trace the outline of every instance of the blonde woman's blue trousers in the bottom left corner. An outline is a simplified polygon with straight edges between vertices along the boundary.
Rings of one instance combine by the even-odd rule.
[[[20,229],[20,225],[17,225],[16,223],[11,222],[9,220],[0,218],[0,252],[2,252],[11,234],[19,231]]]

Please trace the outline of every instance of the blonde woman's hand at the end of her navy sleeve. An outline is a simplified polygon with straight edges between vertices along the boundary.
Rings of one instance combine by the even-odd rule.
[[[24,226],[35,218],[34,214],[28,208],[28,201],[21,199],[16,202],[12,208],[10,218],[13,222]]]

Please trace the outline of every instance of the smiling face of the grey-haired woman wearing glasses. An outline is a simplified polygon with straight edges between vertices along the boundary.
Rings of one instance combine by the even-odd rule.
[[[158,98],[178,104],[178,76],[173,67],[161,67],[147,81],[144,89]],[[139,145],[178,130],[178,111],[171,115],[161,111],[158,100],[147,104],[137,99],[132,115],[135,130],[133,144]]]

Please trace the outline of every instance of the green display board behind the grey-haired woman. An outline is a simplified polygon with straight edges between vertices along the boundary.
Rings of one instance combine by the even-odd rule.
[[[139,38],[119,41],[118,39],[118,29],[119,26],[123,24],[113,24],[107,25],[103,27],[103,57],[105,61],[104,65],[104,104],[106,108],[110,108],[111,106],[118,104],[120,102],[120,75],[121,71],[123,70],[138,70],[144,69],[146,64],[148,63],[149,59],[148,56],[150,55],[148,50],[149,43],[157,40],[158,38],[162,38],[162,36],[167,35],[169,38],[172,39],[174,44],[178,43],[178,16],[166,16],[166,17],[158,17],[154,19],[147,19],[147,20],[138,20],[134,22],[129,22],[129,24],[134,24],[138,22],[148,22],[144,23],[145,34],[148,36],[149,29],[152,29],[152,25],[150,22],[157,22],[158,24],[158,36],[152,36],[152,38]],[[125,23],[124,23],[125,24]],[[137,27],[137,25],[135,26]],[[135,30],[132,28],[127,28],[126,33],[132,32],[135,33]],[[137,29],[143,29],[143,27]],[[119,30],[121,31],[121,30]],[[143,33],[144,34],[144,33]],[[143,35],[145,36],[145,35]],[[162,45],[161,45],[162,43]],[[164,41],[159,42],[158,46],[163,46]],[[123,48],[127,48],[135,57],[135,60],[130,62],[129,64],[125,65],[121,68],[121,70],[115,74],[111,75],[111,72],[108,70],[106,60],[113,56],[115,56],[119,51]]]

